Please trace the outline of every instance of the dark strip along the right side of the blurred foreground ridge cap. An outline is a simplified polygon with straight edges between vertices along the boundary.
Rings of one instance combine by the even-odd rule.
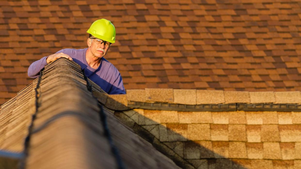
[[[87,82],[87,89],[88,89],[89,92],[92,93],[92,85],[89,83],[88,77],[85,75],[85,69],[82,69],[82,73],[84,75],[84,79]],[[92,96],[93,96],[93,98],[95,98],[95,96],[93,94],[92,94]],[[97,98],[95,98],[95,99],[97,99]],[[112,151],[112,153],[113,153],[113,155],[116,159],[118,168],[123,169],[123,168],[125,168],[125,166],[124,166],[122,158],[119,154],[119,150],[117,149],[117,147],[113,143],[113,139],[112,139],[112,136],[110,134],[110,130],[109,130],[108,125],[107,125],[107,115],[104,113],[104,110],[103,110],[103,108],[100,104],[98,104],[98,107],[100,108],[99,116],[100,116],[102,126],[104,128],[104,135],[107,137],[107,139],[109,141],[111,151]]]

